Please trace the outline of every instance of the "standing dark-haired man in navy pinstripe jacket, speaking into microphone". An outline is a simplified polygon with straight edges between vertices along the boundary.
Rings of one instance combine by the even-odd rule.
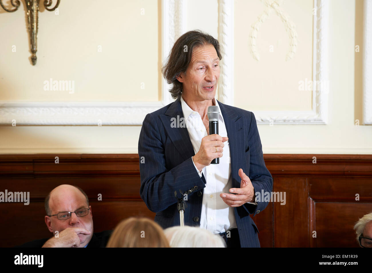
[[[227,247],[260,247],[249,215],[266,208],[254,192],[271,192],[273,180],[254,114],[215,99],[221,59],[218,40],[200,30],[174,43],[162,72],[176,101],[143,121],[140,194],[163,228],[180,225],[176,191],[187,194],[185,225],[220,234]],[[212,105],[218,134],[209,134]]]

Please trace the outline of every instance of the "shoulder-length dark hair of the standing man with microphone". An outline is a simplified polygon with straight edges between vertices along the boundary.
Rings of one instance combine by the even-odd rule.
[[[222,48],[218,40],[199,29],[186,32],[174,43],[165,64],[161,68],[161,73],[163,73],[167,83],[173,84],[169,90],[173,98],[181,97],[182,82],[179,82],[176,78],[180,74],[186,73],[194,48],[205,45],[214,46],[218,58],[222,59]]]

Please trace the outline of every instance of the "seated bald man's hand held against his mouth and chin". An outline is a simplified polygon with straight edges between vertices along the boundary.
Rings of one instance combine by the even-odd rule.
[[[79,247],[78,234],[89,235],[90,233],[85,228],[66,228],[58,234],[58,238],[53,236],[42,247]]]

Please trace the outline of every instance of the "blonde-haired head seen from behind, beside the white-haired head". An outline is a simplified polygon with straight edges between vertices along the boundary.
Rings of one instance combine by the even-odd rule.
[[[131,217],[116,226],[106,247],[169,247],[169,243],[153,220]]]

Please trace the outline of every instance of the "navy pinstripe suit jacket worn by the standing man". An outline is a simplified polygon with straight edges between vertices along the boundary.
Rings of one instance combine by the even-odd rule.
[[[271,192],[273,179],[263,160],[254,114],[219,101],[218,104],[230,143],[232,188],[240,188],[238,170],[242,168],[251,179],[255,192]],[[200,225],[202,193],[206,183],[204,175],[200,178],[192,163],[191,157],[195,152],[187,128],[171,127],[171,118],[177,120],[177,116],[178,120],[183,117],[179,99],[147,114],[138,142],[141,198],[151,211],[156,212],[155,222],[163,228],[180,224],[174,196],[174,191],[177,191],[180,197],[180,190],[191,191],[186,201],[185,225]],[[259,231],[249,215],[263,211],[267,204],[260,201],[257,206],[245,204],[234,208],[241,247],[260,247]]]

